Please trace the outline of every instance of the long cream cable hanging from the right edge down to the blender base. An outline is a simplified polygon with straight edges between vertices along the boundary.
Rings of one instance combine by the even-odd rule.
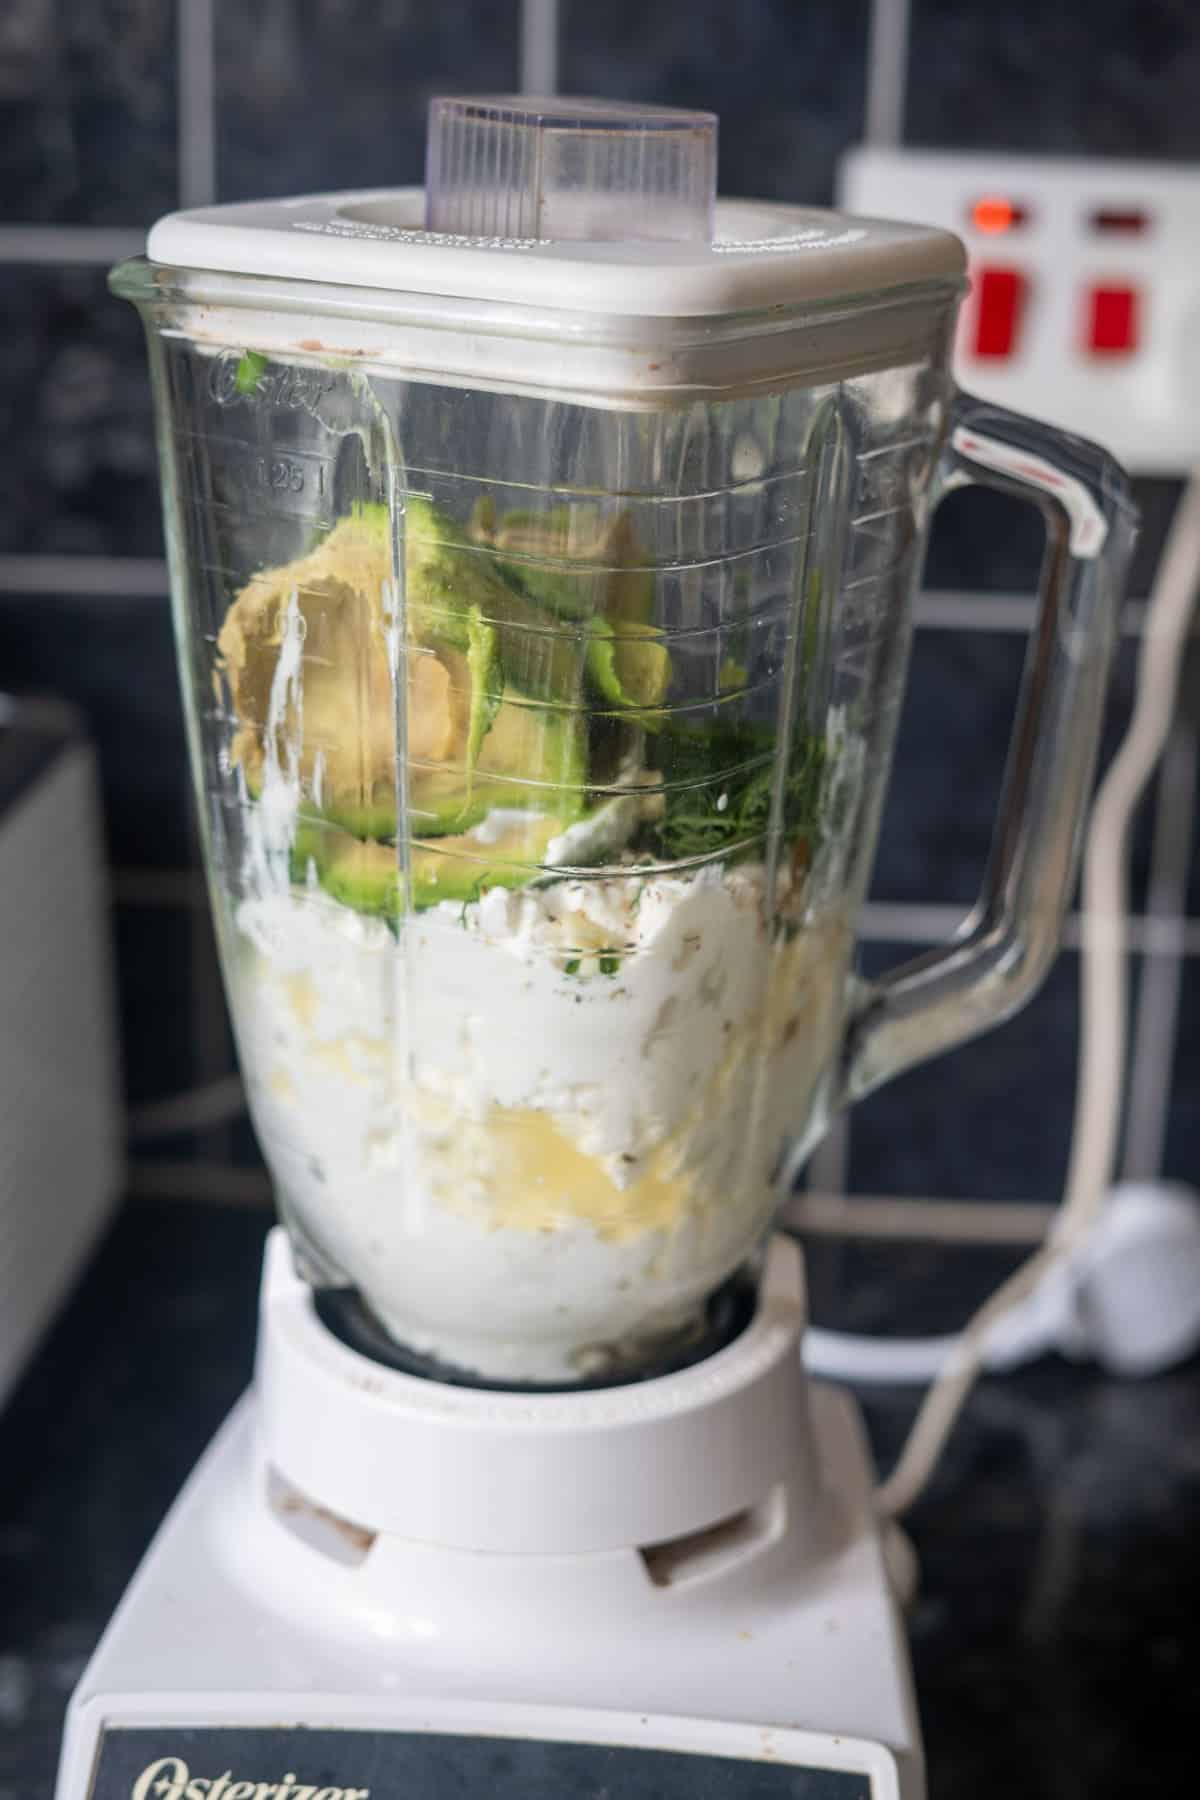
[[[1121,1120],[1126,1040],[1126,841],[1133,810],[1162,754],[1178,668],[1200,578],[1200,468],[1175,508],[1142,634],[1130,729],[1092,806],[1083,857],[1079,1071],[1070,1166],[1047,1244],[975,1312],[925,1395],[900,1460],[878,1490],[882,1514],[896,1517],[932,1476],[986,1354],[995,1325],[1079,1246],[1108,1193]],[[945,1350],[945,1346],[943,1346]],[[887,1352],[903,1354],[891,1343]],[[912,1346],[914,1366],[932,1363],[930,1341]]]

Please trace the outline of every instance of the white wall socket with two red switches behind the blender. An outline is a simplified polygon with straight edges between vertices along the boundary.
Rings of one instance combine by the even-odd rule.
[[[1200,166],[864,146],[838,198],[966,243],[963,387],[1141,475],[1200,464]]]

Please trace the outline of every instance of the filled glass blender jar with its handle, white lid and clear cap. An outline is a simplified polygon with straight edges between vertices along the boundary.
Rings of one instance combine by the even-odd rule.
[[[1024,1003],[1074,873],[1126,481],[955,391],[955,238],[714,202],[714,151],[703,113],[435,101],[426,193],[180,214],[113,275],[281,1215],[338,1328],[448,1379],[736,1328],[833,1112]],[[995,851],[865,983],[968,481],[1047,524]]]

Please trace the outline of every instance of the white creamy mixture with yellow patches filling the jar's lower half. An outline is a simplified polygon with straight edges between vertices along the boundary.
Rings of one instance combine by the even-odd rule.
[[[754,1249],[840,1013],[840,918],[772,941],[765,875],[560,882],[412,914],[237,909],[275,1177],[403,1343],[570,1381],[678,1330]]]

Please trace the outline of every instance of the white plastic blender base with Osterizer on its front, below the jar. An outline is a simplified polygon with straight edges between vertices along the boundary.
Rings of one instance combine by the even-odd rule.
[[[72,1697],[58,1800],[921,1800],[865,1442],[802,1323],[777,1240],[707,1364],[437,1388],[336,1343],[275,1233],[255,1395]],[[439,1492],[441,1541],[394,1528]]]

